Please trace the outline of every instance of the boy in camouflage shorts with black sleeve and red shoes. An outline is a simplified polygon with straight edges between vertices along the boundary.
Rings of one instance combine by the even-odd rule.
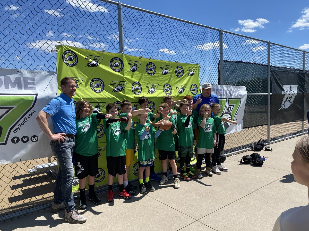
[[[190,171],[191,157],[193,156],[193,145],[196,145],[195,132],[193,128],[192,110],[189,110],[187,102],[179,104],[181,114],[177,116],[178,145],[180,156],[180,177],[186,181],[190,178],[196,178]],[[184,162],[186,163],[186,171],[184,171]]]

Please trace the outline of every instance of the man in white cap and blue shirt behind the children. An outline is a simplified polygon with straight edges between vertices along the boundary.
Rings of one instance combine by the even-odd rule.
[[[211,105],[212,103],[219,103],[219,99],[216,95],[211,94],[211,89],[213,87],[210,83],[202,84],[202,93],[193,97],[193,106],[192,108],[197,110],[198,114],[200,114],[200,107],[207,103]],[[196,104],[195,104],[196,103]],[[211,113],[213,115],[213,113]]]

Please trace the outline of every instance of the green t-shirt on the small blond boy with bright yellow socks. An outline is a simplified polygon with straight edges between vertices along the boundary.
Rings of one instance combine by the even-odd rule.
[[[150,127],[146,133],[145,139],[140,140],[140,136],[145,130],[145,127]],[[146,123],[145,125],[137,124],[135,126],[135,134],[138,139],[138,161],[155,159],[155,134],[156,130],[152,124]],[[161,135],[161,134],[160,134]]]

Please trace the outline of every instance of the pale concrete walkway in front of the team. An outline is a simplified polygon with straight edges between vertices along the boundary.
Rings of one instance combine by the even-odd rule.
[[[102,204],[87,202],[79,210],[88,220],[73,225],[62,220],[63,211],[40,210],[0,223],[2,230],[272,230],[281,212],[308,205],[307,187],[294,181],[292,153],[300,137],[270,145],[273,152],[261,151],[268,160],[262,167],[239,164],[243,152],[226,158],[228,172],[185,182],[173,188],[173,180],[155,192],[138,194],[131,200],[118,196],[113,203],[100,193]],[[205,165],[203,164],[203,167]],[[134,183],[137,185],[137,182]],[[77,203],[77,201],[76,201]]]

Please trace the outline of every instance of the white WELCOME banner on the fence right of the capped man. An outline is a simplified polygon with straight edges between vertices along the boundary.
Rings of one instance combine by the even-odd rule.
[[[243,113],[247,100],[246,87],[230,85],[212,85],[212,94],[217,95],[221,105],[220,117],[237,121],[238,126],[230,123],[224,124],[226,134],[243,130]]]

